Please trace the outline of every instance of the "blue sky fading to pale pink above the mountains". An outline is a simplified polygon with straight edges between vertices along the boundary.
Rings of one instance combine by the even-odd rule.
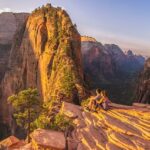
[[[0,0],[0,12],[31,12],[48,2],[66,9],[81,35],[150,56],[150,0]]]

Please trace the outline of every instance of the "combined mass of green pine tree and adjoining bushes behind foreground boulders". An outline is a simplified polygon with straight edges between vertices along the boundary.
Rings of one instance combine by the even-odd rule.
[[[13,117],[21,128],[30,133],[37,129],[53,129],[65,132],[73,126],[70,119],[61,113],[61,104],[57,100],[42,103],[37,89],[27,89],[12,95],[8,102],[13,106]]]

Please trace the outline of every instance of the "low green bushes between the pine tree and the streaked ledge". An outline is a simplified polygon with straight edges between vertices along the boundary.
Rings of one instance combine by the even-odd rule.
[[[61,104],[52,100],[45,102],[40,116],[34,122],[34,128],[52,129],[65,132],[73,126],[72,121],[61,112]]]

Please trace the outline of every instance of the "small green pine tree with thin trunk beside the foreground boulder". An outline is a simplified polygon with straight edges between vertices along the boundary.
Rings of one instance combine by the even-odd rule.
[[[23,90],[10,96],[8,101],[13,106],[13,116],[17,125],[27,130],[28,142],[30,142],[32,124],[39,117],[42,108],[37,89]]]

